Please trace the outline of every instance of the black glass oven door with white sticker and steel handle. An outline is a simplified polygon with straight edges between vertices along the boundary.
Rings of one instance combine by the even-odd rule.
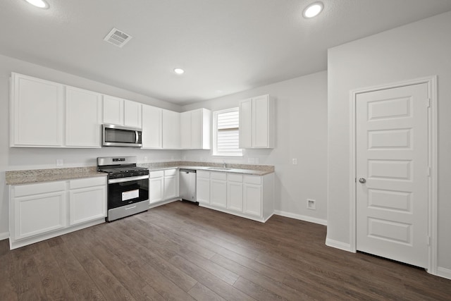
[[[149,200],[149,175],[108,180],[108,209]]]

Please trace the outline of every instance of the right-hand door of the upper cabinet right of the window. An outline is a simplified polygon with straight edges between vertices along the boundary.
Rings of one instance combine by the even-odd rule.
[[[268,147],[268,95],[252,99],[252,147]]]

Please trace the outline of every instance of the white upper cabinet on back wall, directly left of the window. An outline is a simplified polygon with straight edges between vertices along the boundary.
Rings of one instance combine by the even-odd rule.
[[[180,148],[211,148],[211,111],[196,109],[180,113]]]

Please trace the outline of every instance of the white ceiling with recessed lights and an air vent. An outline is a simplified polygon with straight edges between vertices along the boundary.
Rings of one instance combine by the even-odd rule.
[[[185,105],[326,70],[327,49],[451,10],[450,0],[0,2],[0,54]],[[104,42],[116,27],[132,36]],[[174,68],[183,68],[177,75]]]

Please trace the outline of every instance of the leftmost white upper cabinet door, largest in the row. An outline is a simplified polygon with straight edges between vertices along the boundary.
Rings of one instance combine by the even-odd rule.
[[[63,146],[64,87],[12,73],[11,147]]]

